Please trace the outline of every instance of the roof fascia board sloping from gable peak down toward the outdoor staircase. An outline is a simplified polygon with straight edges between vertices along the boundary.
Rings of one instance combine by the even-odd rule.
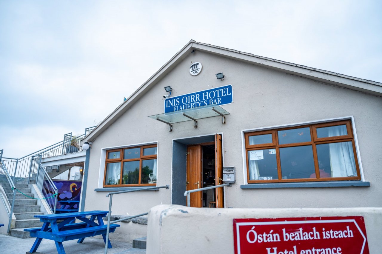
[[[112,123],[118,119],[121,115],[123,115],[131,105],[133,105],[137,100],[139,100],[146,91],[151,89],[156,83],[160,81],[164,76],[166,76],[177,63],[182,61],[185,57],[187,57],[187,52],[191,53],[192,51],[192,43],[194,40],[190,40],[188,44],[186,44],[178,53],[176,53],[170,60],[165,63],[156,73],[154,73],[145,83],[143,83],[133,94],[131,94],[123,103],[121,103],[115,110],[113,110],[110,115],[108,115],[104,120],[102,120],[95,129],[89,133],[85,138],[81,140],[81,145],[84,142],[94,141],[97,136],[102,133],[105,129],[107,129]]]

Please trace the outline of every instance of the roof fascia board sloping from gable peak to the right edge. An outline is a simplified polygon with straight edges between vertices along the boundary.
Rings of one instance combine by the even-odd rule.
[[[303,65],[296,65],[272,58],[260,57],[250,53],[239,52],[236,50],[202,44],[199,42],[194,42],[193,47],[200,51],[214,53],[216,55],[228,57],[235,60],[241,60],[254,65],[265,66],[267,68],[283,71],[288,74],[294,74],[296,76],[314,79],[322,83],[328,83],[335,86],[346,87],[352,90],[365,92],[367,94],[382,96],[382,83],[378,83],[376,81],[354,78],[343,74],[319,70]]]

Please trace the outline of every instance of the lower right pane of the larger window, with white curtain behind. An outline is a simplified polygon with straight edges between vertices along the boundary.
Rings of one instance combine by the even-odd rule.
[[[316,148],[320,177],[357,176],[351,141],[320,144]]]

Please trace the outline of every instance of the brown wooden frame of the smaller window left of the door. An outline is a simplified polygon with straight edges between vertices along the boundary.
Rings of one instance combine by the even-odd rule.
[[[152,145],[146,145],[146,146],[122,147],[122,148],[119,148],[119,149],[107,150],[106,151],[106,159],[105,159],[105,170],[104,170],[104,182],[103,182],[103,186],[104,187],[156,186],[157,183],[141,183],[142,161],[157,159],[157,154],[145,155],[145,156],[143,155],[143,149],[151,148],[151,147],[158,147],[158,145],[157,144],[152,144]],[[139,158],[123,159],[124,155],[125,155],[125,149],[133,149],[133,148],[140,148],[141,149],[140,150],[140,154],[139,154]],[[118,158],[118,159],[107,159],[109,152],[117,152],[117,151],[120,151],[120,158]],[[123,163],[124,162],[131,162],[131,161],[139,161],[138,184],[121,184],[122,183],[122,178],[123,178]],[[121,178],[120,178],[119,184],[105,184],[107,163],[113,163],[113,162],[120,162],[121,163],[121,169],[120,169]],[[158,173],[158,166],[157,166],[157,173]]]

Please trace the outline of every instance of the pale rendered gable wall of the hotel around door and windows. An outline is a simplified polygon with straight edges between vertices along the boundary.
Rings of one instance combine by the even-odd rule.
[[[198,76],[188,73],[194,61],[203,65]],[[224,81],[216,73],[223,72]],[[233,103],[222,107],[230,112],[226,124],[220,117],[205,118],[193,128],[192,121],[168,125],[147,116],[163,113],[163,87],[171,86],[172,96],[231,84]],[[381,207],[382,199],[382,99],[289,75],[241,61],[197,51],[190,54],[167,76],[158,81],[117,121],[98,136],[91,147],[85,210],[107,210],[107,192],[102,188],[105,149],[158,143],[158,186],[172,182],[174,139],[222,133],[223,165],[235,166],[236,183],[225,190],[226,207]],[[358,135],[364,180],[370,187],[241,189],[246,183],[243,163],[243,130],[289,125],[308,121],[353,116]],[[119,194],[113,197],[113,214],[147,212],[159,204],[171,204],[170,190]]]

